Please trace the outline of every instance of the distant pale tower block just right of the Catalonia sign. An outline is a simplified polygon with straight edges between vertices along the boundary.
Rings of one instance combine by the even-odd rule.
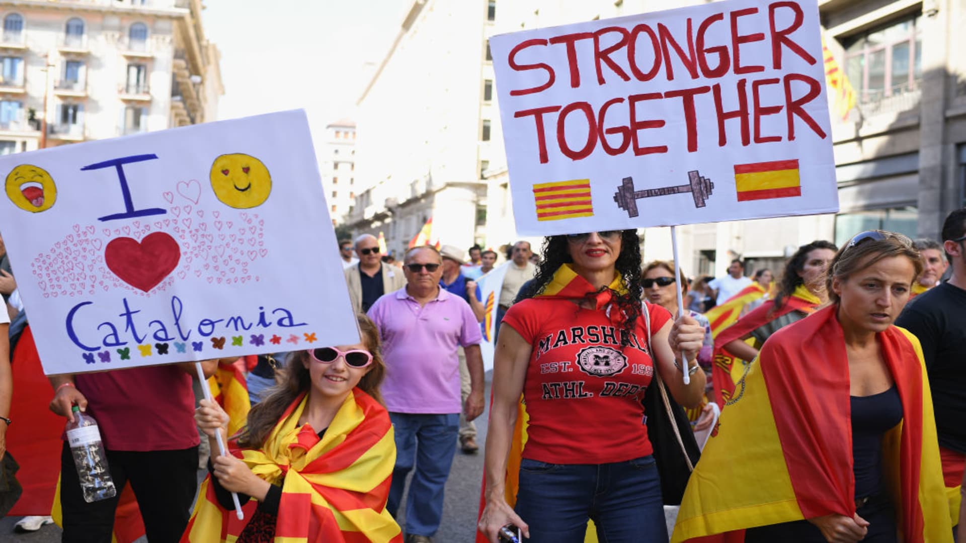
[[[334,226],[345,221],[355,204],[355,121],[341,119],[328,124],[319,157],[322,186]]]

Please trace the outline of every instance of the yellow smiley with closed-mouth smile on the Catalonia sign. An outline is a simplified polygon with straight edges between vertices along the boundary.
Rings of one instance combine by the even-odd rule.
[[[250,155],[235,153],[215,158],[211,178],[218,200],[240,210],[262,205],[271,192],[269,168]]]

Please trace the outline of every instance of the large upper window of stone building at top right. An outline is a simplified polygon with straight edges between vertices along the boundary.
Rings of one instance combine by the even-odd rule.
[[[919,16],[880,27],[845,42],[845,74],[861,103],[919,87],[922,44]]]

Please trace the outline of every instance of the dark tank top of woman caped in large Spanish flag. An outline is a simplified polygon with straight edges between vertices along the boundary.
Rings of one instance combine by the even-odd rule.
[[[902,401],[895,385],[871,396],[851,396],[852,472],[855,497],[882,492],[882,436],[902,420]]]

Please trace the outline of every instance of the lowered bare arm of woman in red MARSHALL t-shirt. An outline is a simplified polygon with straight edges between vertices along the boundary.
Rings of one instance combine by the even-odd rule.
[[[517,424],[517,408],[524,391],[526,368],[533,347],[517,330],[501,325],[493,368],[493,404],[490,407],[490,426],[486,439],[486,508],[478,528],[496,543],[497,530],[514,524],[529,537],[526,523],[513,511],[504,498],[506,457],[510,453],[513,429]],[[469,362],[469,358],[468,358]]]

